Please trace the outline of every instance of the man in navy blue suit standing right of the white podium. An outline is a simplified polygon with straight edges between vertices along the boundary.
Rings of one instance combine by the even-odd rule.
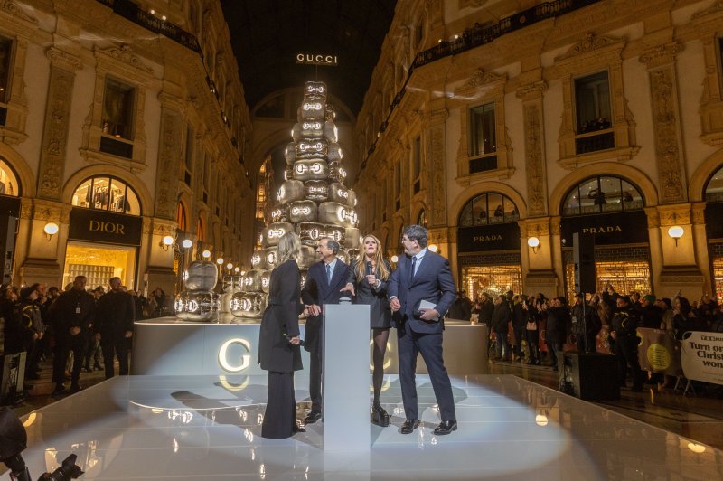
[[[399,382],[407,417],[400,432],[411,434],[419,426],[415,371],[421,353],[442,418],[434,433],[449,434],[457,429],[457,421],[452,384],[442,359],[442,331],[443,316],[455,302],[455,280],[447,259],[427,250],[427,229],[408,226],[401,243],[407,255],[399,259],[388,287],[391,310],[396,313],[392,323],[397,328]],[[420,307],[422,301],[434,307]]]

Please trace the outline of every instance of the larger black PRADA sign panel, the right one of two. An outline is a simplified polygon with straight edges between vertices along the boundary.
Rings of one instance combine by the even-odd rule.
[[[596,245],[648,242],[648,220],[643,211],[614,212],[585,217],[566,217],[560,223],[565,245],[572,246],[572,234],[592,236]]]

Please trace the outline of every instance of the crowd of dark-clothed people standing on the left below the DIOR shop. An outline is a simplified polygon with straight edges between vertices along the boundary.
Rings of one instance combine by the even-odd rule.
[[[126,355],[131,341],[131,335],[123,331],[121,336],[127,335],[127,350],[125,347],[117,350],[110,339],[103,339],[100,334],[101,329],[112,333],[112,330],[108,331],[107,321],[104,327],[104,321],[118,312],[118,305],[127,305],[127,311],[132,311],[123,315],[127,319],[163,316],[167,312],[167,298],[161,288],[156,288],[146,299],[139,291],[120,285],[118,278],[109,279],[109,286],[92,289],[86,288],[84,279],[79,276],[73,283],[65,286],[62,292],[57,287],[48,288],[41,283],[21,288],[12,284],[0,286],[3,352],[25,353],[24,395],[28,395],[28,391],[33,389],[33,381],[40,379],[43,363],[51,360],[52,381],[55,382],[54,396],[80,391],[82,372],[91,373],[105,369],[106,377],[112,376],[114,358]],[[114,297],[113,303],[109,303],[109,295]],[[115,298],[117,296],[120,298]],[[102,308],[104,297],[108,297],[105,304],[109,308],[106,310]],[[108,310],[113,314],[108,314]],[[106,314],[101,316],[99,313]],[[102,318],[98,318],[97,314]],[[130,326],[132,330],[132,323]],[[106,351],[113,351],[110,356],[108,353],[104,356],[104,346]],[[108,369],[104,368],[104,363],[110,364]],[[127,373],[123,363],[121,373]],[[70,391],[66,391],[63,384],[69,379]]]

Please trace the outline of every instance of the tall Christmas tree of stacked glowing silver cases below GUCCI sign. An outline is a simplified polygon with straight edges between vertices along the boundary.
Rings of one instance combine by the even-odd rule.
[[[189,267],[186,291],[176,300],[176,316],[186,320],[211,320],[218,312],[242,318],[262,316],[268,300],[271,270],[277,264],[277,244],[289,231],[296,231],[302,242],[302,255],[296,259],[301,269],[302,287],[306,271],[315,262],[317,242],[328,237],[339,242],[338,257],[349,262],[360,247],[356,194],[344,185],[342,149],[338,144],[333,108],[326,104],[326,85],[306,82],[304,99],[291,131],[293,141],[286,146],[285,181],[277,192],[277,205],[270,212],[271,223],[261,232],[262,248],[251,257],[252,269],[244,276],[223,278],[224,294],[213,296],[208,261]],[[210,266],[209,266],[210,265]],[[201,280],[208,282],[202,282]],[[214,308],[215,305],[215,308]]]

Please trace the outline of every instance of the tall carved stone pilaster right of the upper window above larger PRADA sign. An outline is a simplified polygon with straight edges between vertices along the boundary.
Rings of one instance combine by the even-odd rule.
[[[661,203],[685,202],[687,198],[675,72],[675,56],[681,49],[681,44],[671,42],[654,47],[640,56],[650,78]]]

